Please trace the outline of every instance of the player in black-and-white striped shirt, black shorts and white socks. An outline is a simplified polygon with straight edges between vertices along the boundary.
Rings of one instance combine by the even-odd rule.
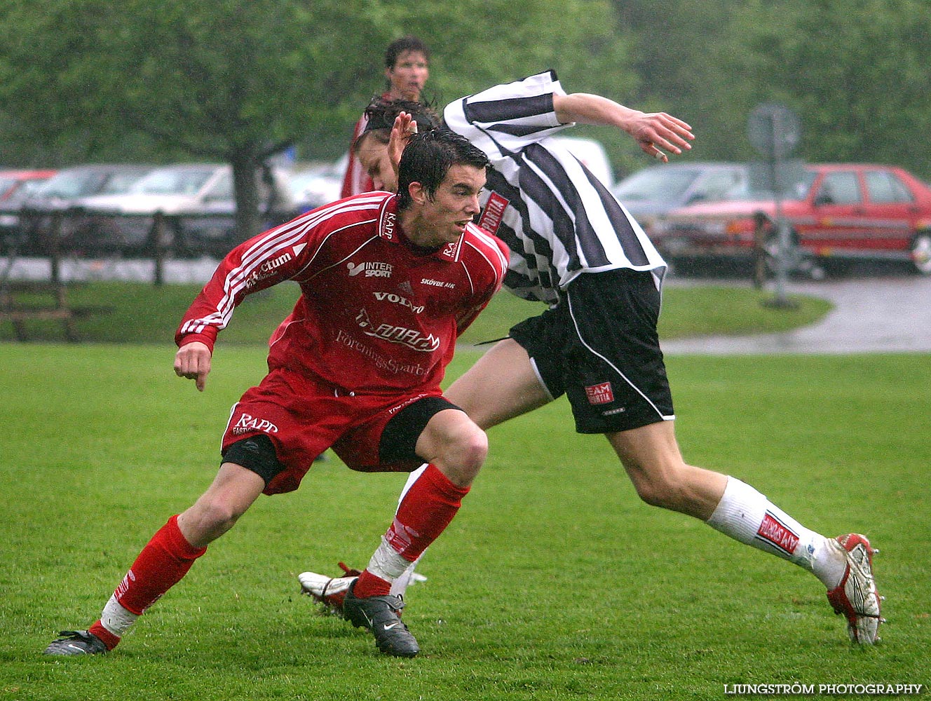
[[[454,101],[443,116],[491,160],[479,224],[511,249],[505,287],[552,305],[513,327],[446,396],[488,429],[566,394],[576,431],[607,438],[644,502],[814,573],[850,639],[878,640],[881,598],[867,538],[811,531],[749,484],[682,458],[656,333],[666,263],[608,189],[546,139],[575,122],[621,128],[666,162],[664,152],[690,148],[691,128],[665,113],[567,95],[553,72]],[[396,177],[409,118],[398,116],[388,146],[366,149],[375,143],[368,137],[360,144],[376,185],[390,187]],[[414,472],[408,486],[416,479]],[[300,579],[306,593],[337,609],[352,581],[312,572]]]

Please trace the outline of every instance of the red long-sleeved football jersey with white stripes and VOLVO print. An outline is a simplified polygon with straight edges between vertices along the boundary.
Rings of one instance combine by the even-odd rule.
[[[505,244],[478,226],[442,249],[418,249],[400,231],[395,195],[356,195],[230,251],[175,341],[212,349],[245,295],[293,280],[301,296],[269,340],[270,369],[311,372],[353,392],[433,387],[506,267]]]

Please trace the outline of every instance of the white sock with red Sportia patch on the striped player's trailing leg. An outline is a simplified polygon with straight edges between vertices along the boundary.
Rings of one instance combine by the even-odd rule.
[[[739,479],[727,478],[708,525],[745,545],[794,562],[829,589],[841,582],[846,559],[830,546],[830,539],[808,530]]]

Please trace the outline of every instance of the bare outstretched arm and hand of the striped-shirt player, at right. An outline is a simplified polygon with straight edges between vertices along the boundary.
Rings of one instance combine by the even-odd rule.
[[[579,122],[624,129],[640,144],[647,155],[668,162],[661,149],[675,155],[692,148],[695,140],[692,127],[681,119],[665,112],[645,113],[632,110],[600,95],[575,92],[571,95],[554,95],[553,107],[563,124]]]

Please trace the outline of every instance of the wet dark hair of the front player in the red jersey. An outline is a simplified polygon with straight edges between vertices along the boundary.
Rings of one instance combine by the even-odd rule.
[[[411,206],[410,185],[419,182],[433,199],[452,166],[484,169],[488,156],[464,136],[444,128],[414,134],[398,165],[398,209]]]

